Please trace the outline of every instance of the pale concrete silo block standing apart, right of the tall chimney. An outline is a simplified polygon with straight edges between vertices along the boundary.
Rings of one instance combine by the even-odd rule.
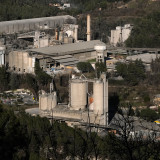
[[[117,46],[124,43],[130,36],[133,26],[130,24],[124,25],[124,27],[117,26],[116,30],[111,30],[111,45]]]

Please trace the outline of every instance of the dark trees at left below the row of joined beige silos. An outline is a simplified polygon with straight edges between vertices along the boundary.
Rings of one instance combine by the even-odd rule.
[[[35,73],[36,75],[10,73],[5,66],[0,67],[0,92],[9,89],[26,88],[38,97],[40,89],[49,91],[49,83],[52,78],[42,71],[38,63],[35,65]]]

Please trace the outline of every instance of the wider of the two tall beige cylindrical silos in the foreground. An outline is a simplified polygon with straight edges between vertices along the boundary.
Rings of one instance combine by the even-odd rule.
[[[87,105],[87,82],[81,79],[71,80],[71,109],[85,109]]]

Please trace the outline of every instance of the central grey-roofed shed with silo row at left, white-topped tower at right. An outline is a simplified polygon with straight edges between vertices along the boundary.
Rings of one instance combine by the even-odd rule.
[[[18,73],[34,73],[35,61],[39,61],[43,70],[50,71],[56,67],[75,66],[79,61],[92,58],[102,61],[105,49],[103,42],[94,40],[12,51],[8,55],[8,63],[10,70]]]

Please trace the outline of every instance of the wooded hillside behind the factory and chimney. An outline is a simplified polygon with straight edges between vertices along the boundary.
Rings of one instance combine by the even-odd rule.
[[[86,15],[91,14],[92,39],[108,43],[110,30],[126,23],[134,30],[128,47],[160,47],[159,0],[63,0],[71,8],[59,10],[50,3],[61,0],[0,0],[0,21],[70,14],[77,18],[79,38],[86,40]]]

